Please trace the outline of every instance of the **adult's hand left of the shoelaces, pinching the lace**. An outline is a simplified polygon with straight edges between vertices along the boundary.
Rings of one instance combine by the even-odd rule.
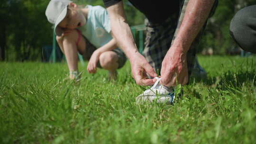
[[[148,86],[155,83],[155,79],[148,79],[147,75],[156,77],[154,69],[146,61],[145,57],[137,53],[130,59],[132,75],[138,85]]]

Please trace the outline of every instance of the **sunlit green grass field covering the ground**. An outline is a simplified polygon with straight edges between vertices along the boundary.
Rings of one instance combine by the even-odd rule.
[[[174,105],[137,105],[129,63],[65,80],[65,63],[0,63],[1,144],[256,143],[256,58],[200,56],[208,72]],[[80,70],[85,70],[80,65]]]

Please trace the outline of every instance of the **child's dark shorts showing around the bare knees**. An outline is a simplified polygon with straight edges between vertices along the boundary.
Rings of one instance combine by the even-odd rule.
[[[86,43],[86,51],[85,51],[85,53],[82,54],[82,56],[83,56],[84,60],[89,61],[92,53],[96,50],[96,47],[94,45],[92,45],[85,37],[84,37],[84,39],[85,39],[85,43]],[[124,52],[119,48],[113,49],[112,51],[118,55],[118,69],[123,67],[127,60]],[[101,68],[100,61],[97,63],[97,67]]]

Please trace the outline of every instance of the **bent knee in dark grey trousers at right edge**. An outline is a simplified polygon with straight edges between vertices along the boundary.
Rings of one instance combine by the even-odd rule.
[[[256,5],[239,10],[231,20],[229,30],[243,50],[256,53]]]

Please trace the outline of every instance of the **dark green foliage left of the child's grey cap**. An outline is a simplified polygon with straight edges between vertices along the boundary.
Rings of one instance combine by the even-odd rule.
[[[46,20],[46,0],[5,0],[1,2],[5,19],[1,27],[6,27],[7,48],[14,50],[15,60],[35,60],[41,47],[51,44],[52,32],[46,30],[50,24]]]

